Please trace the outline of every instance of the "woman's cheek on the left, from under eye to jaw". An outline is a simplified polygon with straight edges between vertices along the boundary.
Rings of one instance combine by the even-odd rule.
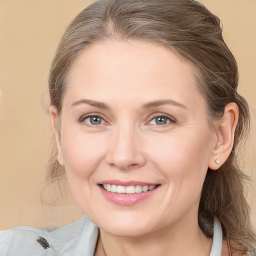
[[[92,189],[95,186],[93,174],[101,165],[105,146],[99,136],[79,134],[63,137],[61,149],[68,186],[80,208],[89,216],[97,200]]]

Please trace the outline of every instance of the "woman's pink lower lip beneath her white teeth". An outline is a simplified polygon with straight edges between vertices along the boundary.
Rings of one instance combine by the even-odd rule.
[[[152,190],[148,190],[146,192],[141,192],[141,193],[133,193],[133,194],[126,194],[126,193],[112,193],[109,191],[106,191],[101,185],[99,185],[99,188],[104,195],[104,197],[109,200],[110,202],[113,202],[118,205],[133,205],[138,202],[141,202],[148,198],[149,196],[152,196],[156,190],[158,190],[159,185],[156,186]]]

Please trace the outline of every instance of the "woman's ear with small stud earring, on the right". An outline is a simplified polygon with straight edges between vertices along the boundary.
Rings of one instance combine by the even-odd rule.
[[[218,169],[229,156],[234,141],[234,131],[238,122],[238,107],[231,102],[225,106],[222,118],[216,122],[217,141],[212,150],[208,167]]]

